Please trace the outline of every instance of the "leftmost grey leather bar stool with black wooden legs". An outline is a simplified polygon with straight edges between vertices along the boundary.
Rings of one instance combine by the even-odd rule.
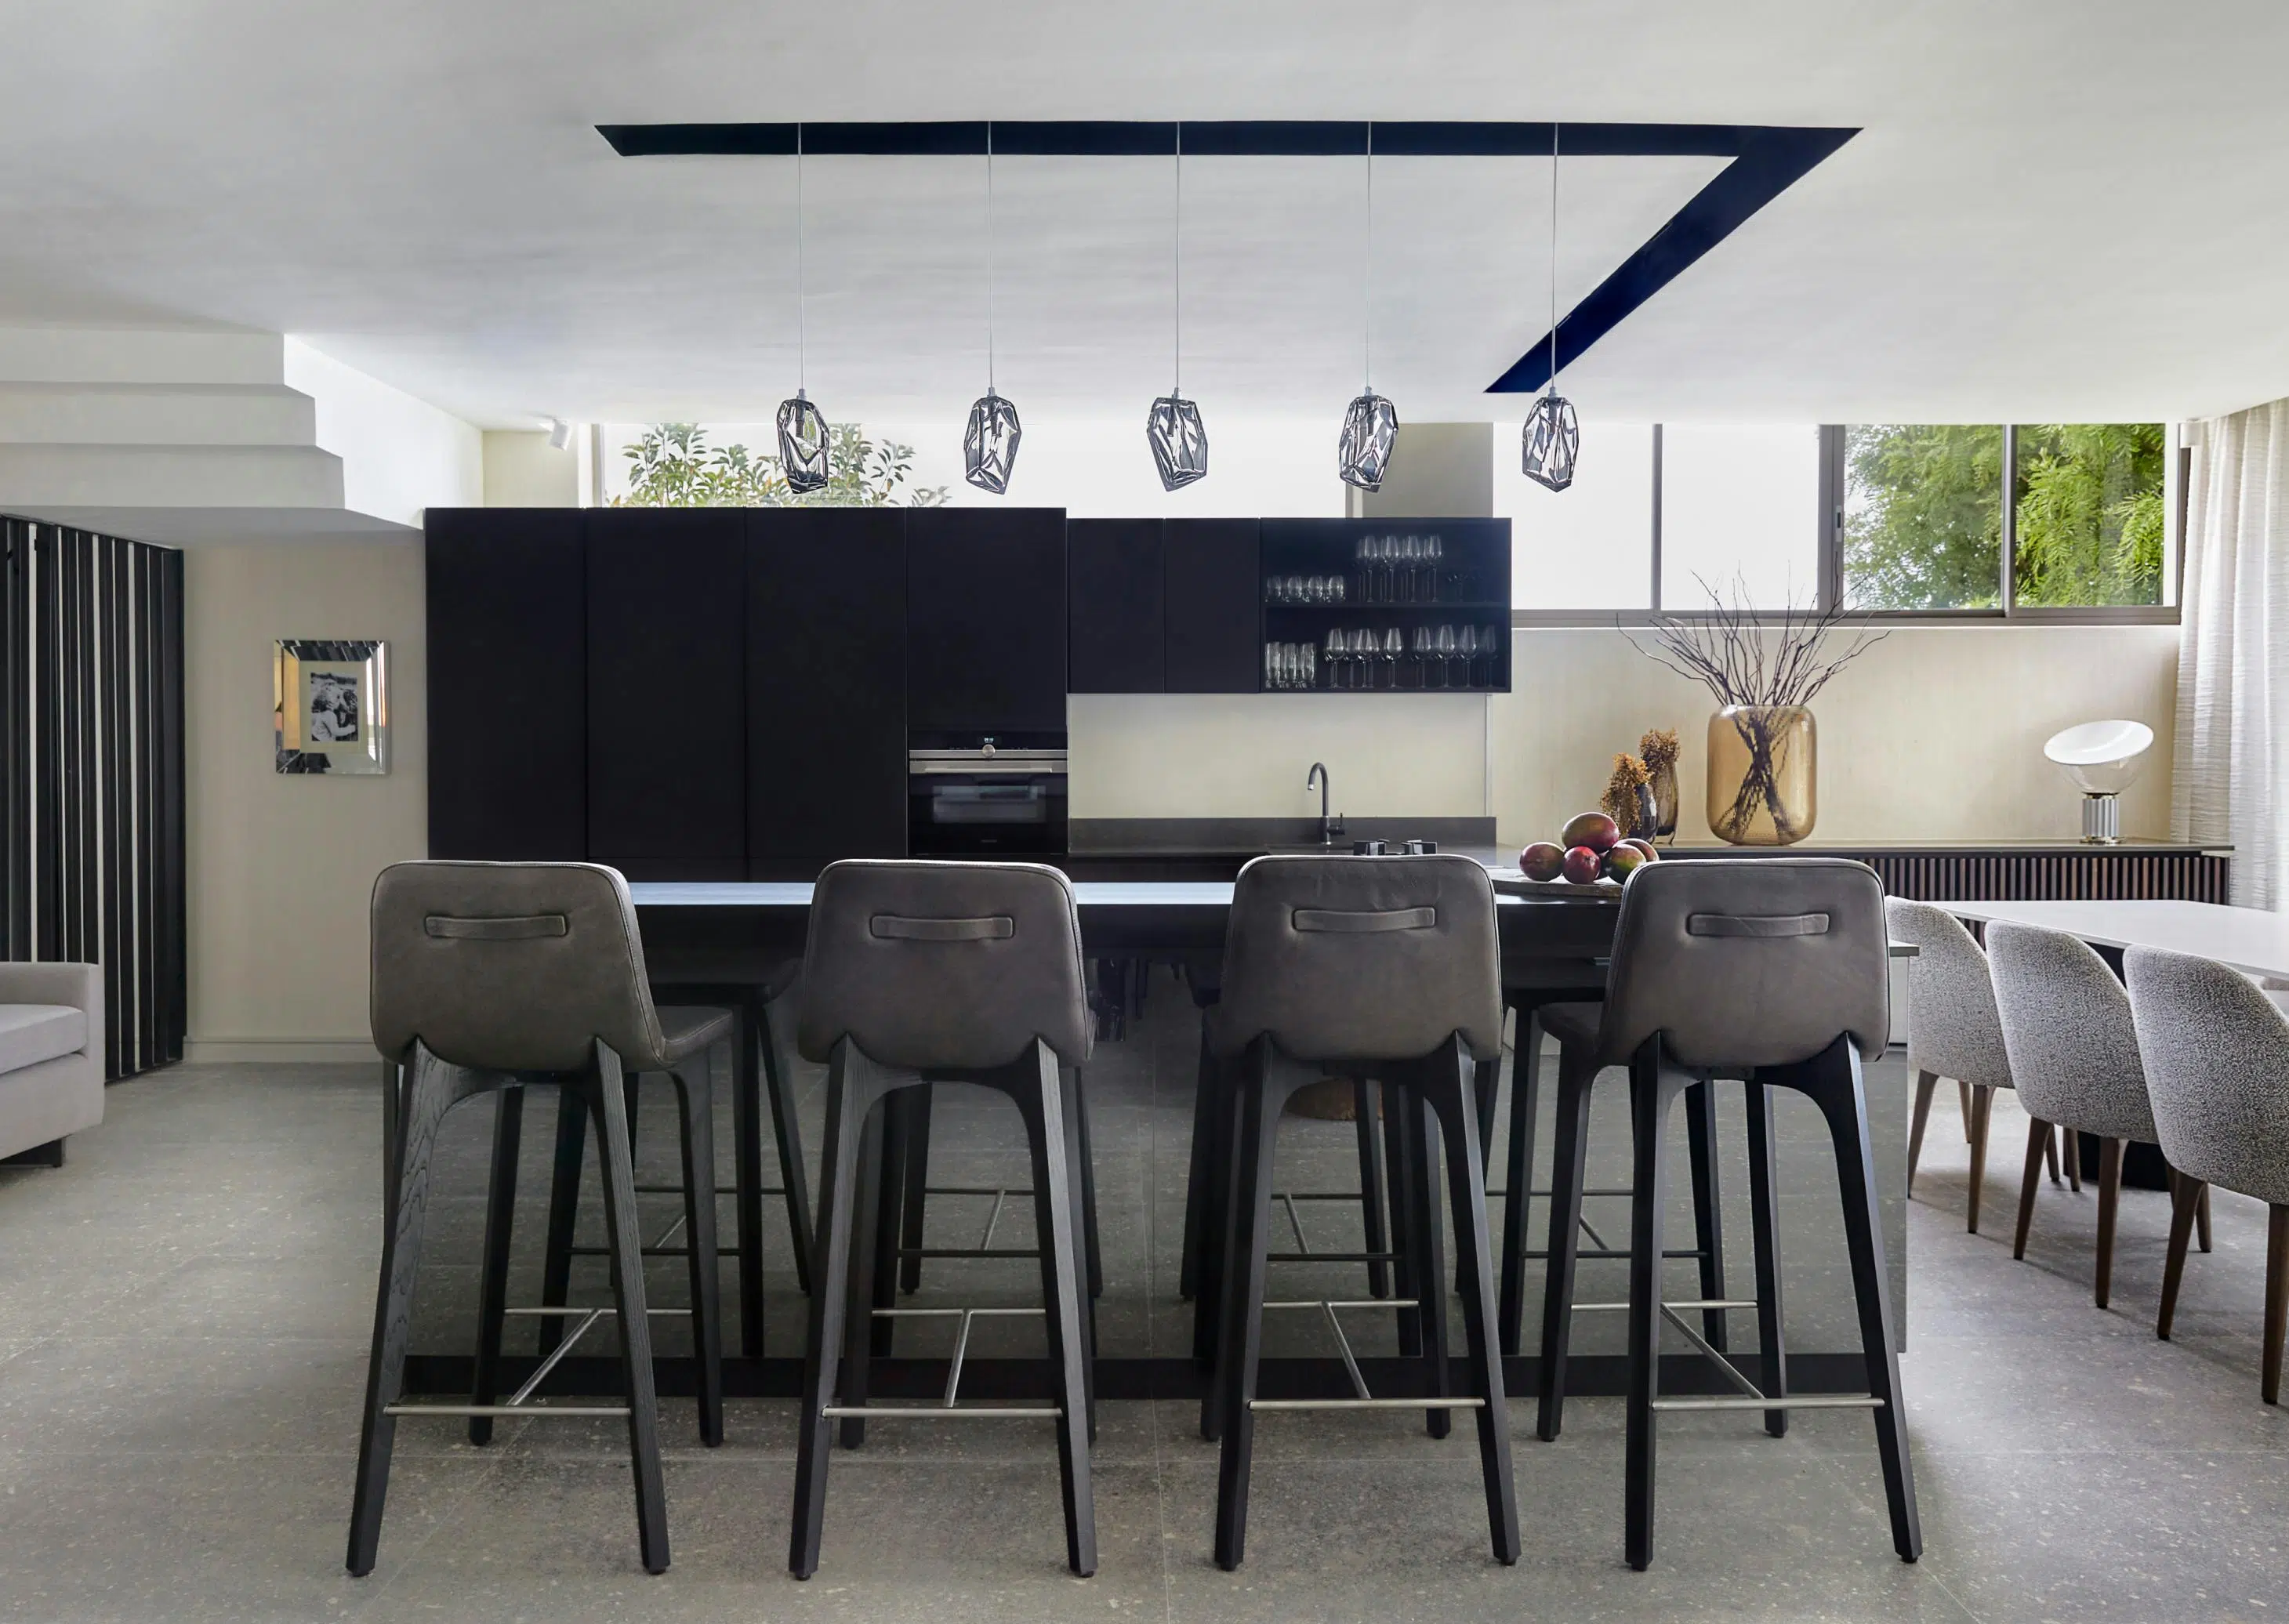
[[[467,1416],[469,1441],[492,1436],[494,1416],[625,1416],[636,1484],[643,1567],[668,1567],[659,1416],[652,1388],[652,1313],[643,1297],[643,1240],[627,1137],[627,1077],[668,1073],[682,1105],[684,1228],[689,1228],[691,1345],[700,1368],[700,1439],[723,1439],[721,1315],[714,1249],[714,1112],[707,1052],[730,1038],[719,1009],[659,1011],[643,974],[643,942],[627,883],[588,862],[398,862],[373,883],[373,1043],[403,1070],[385,1089],[389,1187],[373,1356],[350,1510],[350,1574],[373,1571],[398,1416]],[[391,1080],[394,1082],[394,1080]],[[510,1308],[508,1240],[515,1217],[524,1091],[554,1084],[595,1121],[604,1171],[611,1308],[549,1301],[522,1313],[579,1313],[581,1329],[613,1317],[625,1404],[526,1404],[554,1368],[542,1359],[506,1402],[497,1400],[501,1327]],[[494,1093],[492,1178],[476,1379],[467,1404],[405,1404],[405,1338],[430,1194],[437,1128],[462,1100]],[[575,1334],[577,1336],[577,1334]]]

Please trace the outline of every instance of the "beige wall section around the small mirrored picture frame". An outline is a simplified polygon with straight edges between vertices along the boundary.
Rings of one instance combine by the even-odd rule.
[[[428,851],[419,542],[183,556],[188,1059],[371,1059],[366,897]],[[389,643],[385,778],[272,771],[275,638]]]

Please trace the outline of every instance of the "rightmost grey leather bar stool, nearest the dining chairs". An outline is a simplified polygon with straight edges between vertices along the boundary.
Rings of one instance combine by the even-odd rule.
[[[1543,1290],[1540,1434],[1557,1436],[1566,1400],[1566,1345],[1577,1306],[1575,1228],[1589,1151],[1589,1080],[1630,1068],[1634,1130],[1630,1178],[1630,1407],[1627,1530],[1630,1567],[1653,1562],[1655,1423],[1662,1411],[1765,1411],[1779,1436],[1788,1409],[1868,1404],[1875,1414],[1893,1549],[1923,1555],[1916,1482],[1900,1414],[1900,1354],[1893,1340],[1891,1283],[1868,1148],[1861,1057],[1882,1054],[1888,1029],[1888,942],[1884,887],[1863,862],[1836,858],[1730,858],[1655,862],[1630,876],[1614,926],[1605,1006],[1543,1011],[1559,1038],[1559,1128],[1552,1176],[1550,1274]],[[1749,1089],[1749,1189],[1756,1231],[1756,1315],[1763,1386],[1751,1384],[1680,1308],[1724,1311],[1751,1304],[1666,1304],[1662,1299],[1662,1217],[1669,1205],[1666,1128],[1671,1102],[1696,1084],[1744,1077]],[[1781,1340],[1781,1272],[1774,1247],[1772,1089],[1806,1093],[1829,1125],[1843,1194],[1845,1249],[1859,1299],[1868,1398],[1788,1398]],[[1669,1320],[1747,1398],[1662,1398],[1660,1343]]]

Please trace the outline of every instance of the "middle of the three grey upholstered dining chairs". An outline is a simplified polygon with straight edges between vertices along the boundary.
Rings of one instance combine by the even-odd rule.
[[[2033,924],[1987,926],[1996,1013],[2010,1075],[2026,1107],[2026,1173],[2010,1256],[2026,1256],[2035,1185],[2051,1130],[2099,1139],[2099,1258],[2094,1299],[2106,1306],[2115,1272],[2115,1215],[2122,1203],[2122,1148],[2154,1141],[2138,1027],[2122,981],[2083,940]]]

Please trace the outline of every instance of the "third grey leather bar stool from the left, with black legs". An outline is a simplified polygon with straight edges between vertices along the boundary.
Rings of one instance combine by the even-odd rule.
[[[1231,887],[1222,1000],[1209,1009],[1209,1052],[1229,1082],[1231,1178],[1225,1192],[1222,1313],[1204,1432],[1222,1434],[1215,1562],[1234,1569],[1248,1542],[1248,1480],[1264,1409],[1424,1409],[1433,1436],[1472,1409],[1495,1560],[1518,1560],[1511,1427],[1495,1352],[1495,1265],[1486,1228],[1474,1064],[1502,1052],[1495,887],[1458,855],[1257,858]],[[1266,1304],[1273,1157],[1280,1114],[1325,1073],[1373,1077],[1399,1123],[1392,1164],[1401,1295],[1383,1304],[1419,1327],[1424,1393],[1376,1398],[1357,1375],[1332,1301]],[[1463,1265],[1467,1393],[1449,1393],[1447,1269],[1435,1217],[1433,1135],[1444,1139],[1456,1249]],[[1351,1398],[1259,1400],[1266,1308],[1316,1308],[1341,1343]]]

